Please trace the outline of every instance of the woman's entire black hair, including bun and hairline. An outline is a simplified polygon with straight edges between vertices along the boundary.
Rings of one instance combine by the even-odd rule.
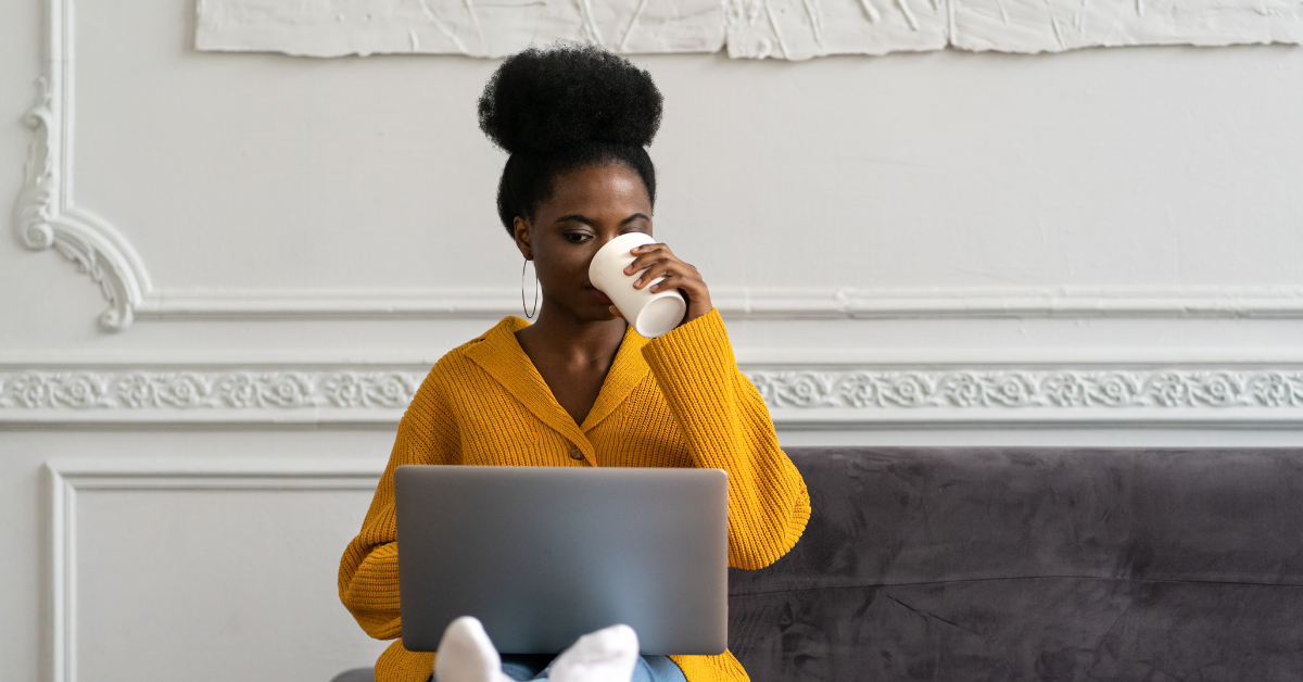
[[[530,48],[507,57],[480,98],[480,129],[511,154],[498,183],[498,216],[515,235],[562,173],[620,162],[655,205],[646,147],[661,126],[652,76],[597,47]]]

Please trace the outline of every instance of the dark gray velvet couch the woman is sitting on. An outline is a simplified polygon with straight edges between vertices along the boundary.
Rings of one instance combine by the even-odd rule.
[[[730,575],[756,682],[1303,679],[1303,450],[788,454],[805,536]]]

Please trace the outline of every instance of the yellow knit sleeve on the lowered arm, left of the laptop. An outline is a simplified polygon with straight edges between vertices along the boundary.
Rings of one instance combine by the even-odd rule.
[[[339,562],[339,599],[367,635],[394,639],[399,619],[399,552],[394,516],[394,469],[401,464],[448,464],[457,458],[457,428],[439,366],[426,377],[399,423],[397,438],[362,520]]]

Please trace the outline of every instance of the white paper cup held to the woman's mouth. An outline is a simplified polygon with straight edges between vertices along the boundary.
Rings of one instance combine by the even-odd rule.
[[[624,319],[633,325],[633,331],[654,339],[683,322],[688,301],[679,289],[653,292],[652,284],[665,278],[653,279],[641,289],[633,288],[633,282],[646,270],[625,275],[624,269],[633,262],[629,250],[644,244],[655,244],[655,240],[642,232],[629,232],[607,241],[588,265],[588,279],[611,299]]]

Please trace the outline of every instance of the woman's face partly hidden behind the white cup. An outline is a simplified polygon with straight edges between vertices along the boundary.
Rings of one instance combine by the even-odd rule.
[[[628,166],[609,163],[556,177],[534,218],[516,218],[516,246],[533,258],[543,308],[579,321],[612,319],[611,300],[588,280],[597,249],[625,232],[652,233],[652,200]],[[559,308],[559,310],[558,310]]]

